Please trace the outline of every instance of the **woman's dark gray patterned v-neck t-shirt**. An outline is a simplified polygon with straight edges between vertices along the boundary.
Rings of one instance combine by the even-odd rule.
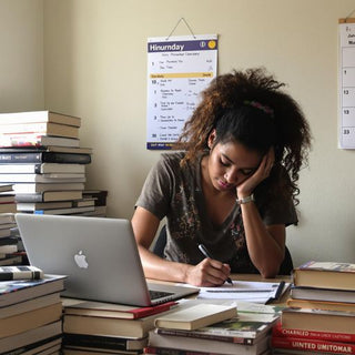
[[[201,185],[202,155],[196,163],[181,168],[183,156],[183,152],[162,154],[135,204],[160,220],[166,217],[165,258],[195,265],[204,258],[197,248],[203,243],[216,260],[229,263],[233,273],[258,273],[248,256],[240,206],[235,203],[223,224],[213,225]],[[258,206],[257,200],[255,203]],[[280,197],[258,210],[266,225],[297,223],[292,201]]]

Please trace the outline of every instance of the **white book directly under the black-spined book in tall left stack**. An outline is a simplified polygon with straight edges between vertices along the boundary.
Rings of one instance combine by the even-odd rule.
[[[65,163],[32,163],[32,164],[0,165],[0,174],[48,174],[48,173],[83,174],[85,173],[85,165],[84,164],[65,164]]]

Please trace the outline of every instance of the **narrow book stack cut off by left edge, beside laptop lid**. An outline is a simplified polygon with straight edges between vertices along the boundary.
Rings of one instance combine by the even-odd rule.
[[[13,235],[16,212],[12,184],[0,184],[0,266],[22,263],[20,242]]]

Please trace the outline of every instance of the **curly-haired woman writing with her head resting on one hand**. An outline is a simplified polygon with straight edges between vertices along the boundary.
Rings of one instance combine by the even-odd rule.
[[[178,142],[184,152],[162,154],[135,205],[146,277],[213,286],[231,272],[278,273],[311,146],[308,124],[283,85],[251,69],[220,75],[202,93]],[[163,217],[164,258],[149,251]]]

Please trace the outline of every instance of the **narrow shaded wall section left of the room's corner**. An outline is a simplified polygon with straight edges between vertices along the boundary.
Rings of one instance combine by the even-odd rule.
[[[43,0],[0,0],[0,112],[42,109]]]

